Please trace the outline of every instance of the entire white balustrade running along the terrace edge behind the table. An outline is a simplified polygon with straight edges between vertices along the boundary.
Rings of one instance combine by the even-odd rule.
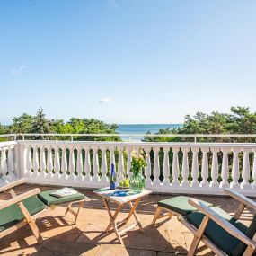
[[[19,150],[14,150],[15,146]],[[233,188],[256,196],[255,144],[36,140],[0,143],[0,183],[27,177],[31,183],[106,187],[111,164],[119,175],[130,177],[131,153],[140,150],[148,155],[144,170],[146,188],[154,192],[223,194],[224,188]],[[150,158],[152,152],[154,159]],[[199,152],[202,153],[200,162]],[[223,155],[222,161],[218,161],[219,152]]]

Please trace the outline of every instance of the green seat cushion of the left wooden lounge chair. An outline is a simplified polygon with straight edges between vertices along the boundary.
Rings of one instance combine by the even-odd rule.
[[[46,205],[36,196],[24,199],[22,202],[31,216],[37,214],[46,207]],[[24,216],[17,204],[0,210],[0,232],[19,223],[22,219],[24,219]]]

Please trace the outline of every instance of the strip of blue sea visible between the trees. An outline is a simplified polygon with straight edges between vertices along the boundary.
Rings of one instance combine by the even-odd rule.
[[[121,134],[146,134],[148,131],[152,134],[157,133],[163,128],[180,128],[182,124],[119,124],[117,132]],[[123,140],[128,140],[129,137],[122,137]],[[135,136],[132,140],[141,140],[143,137]]]

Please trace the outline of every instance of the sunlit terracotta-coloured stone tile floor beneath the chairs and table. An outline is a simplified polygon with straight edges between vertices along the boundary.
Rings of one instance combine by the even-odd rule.
[[[36,186],[22,185],[17,187],[18,194],[31,190]],[[40,187],[40,190],[54,189],[53,187]],[[48,216],[37,220],[37,225],[44,238],[44,243],[38,245],[31,234],[29,226],[24,226],[13,234],[4,236],[0,240],[0,255],[149,255],[171,256],[186,255],[190,247],[192,234],[173,217],[152,226],[152,218],[156,202],[160,199],[170,198],[166,195],[150,195],[144,198],[137,208],[137,215],[144,226],[144,233],[137,228],[124,234],[124,246],[120,245],[112,232],[103,235],[109,216],[103,208],[102,199],[99,199],[92,190],[80,190],[91,202],[87,202],[81,210],[76,225],[72,224],[73,216],[64,216],[65,205],[56,207]],[[195,196],[196,197],[196,196]],[[0,194],[0,200],[8,199],[8,194]],[[237,207],[234,199],[225,197],[196,197],[207,200],[216,206],[223,207],[225,211],[233,214]],[[126,216],[128,209],[119,215]],[[243,221],[252,220],[252,212],[247,210],[243,214]],[[132,220],[130,220],[132,221]],[[212,255],[203,245],[198,255]]]

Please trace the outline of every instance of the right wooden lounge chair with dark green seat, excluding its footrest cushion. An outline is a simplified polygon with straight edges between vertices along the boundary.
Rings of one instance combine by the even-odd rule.
[[[256,202],[234,190],[225,189],[224,191],[240,202],[234,216],[230,216],[219,207],[207,205],[198,199],[189,198],[187,198],[187,201],[192,210],[190,213],[181,214],[179,200],[176,199],[177,204],[174,207],[179,209],[176,212],[178,220],[194,234],[188,252],[189,256],[195,255],[200,241],[205,243],[216,255],[247,256],[255,252],[256,216],[253,216],[252,223],[249,226],[243,225],[239,218],[244,207],[251,207],[256,210]],[[155,220],[153,222],[155,223]]]

